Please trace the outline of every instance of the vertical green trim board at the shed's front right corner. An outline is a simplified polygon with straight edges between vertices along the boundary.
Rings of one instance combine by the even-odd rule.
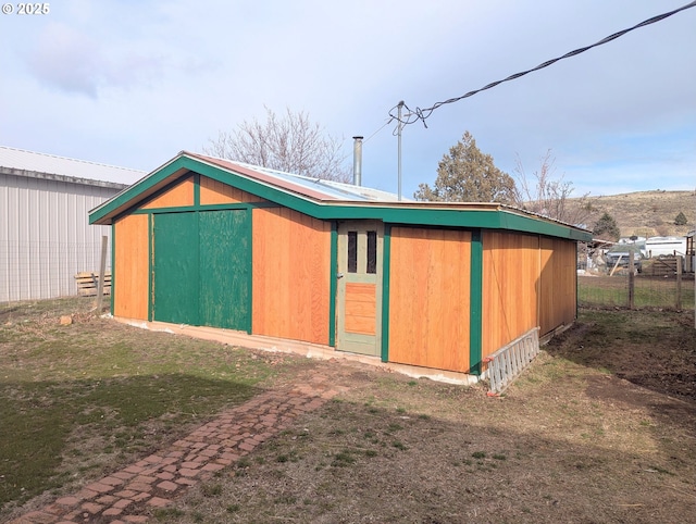
[[[481,360],[483,358],[483,241],[481,229],[471,233],[470,271],[469,373],[481,375]]]

